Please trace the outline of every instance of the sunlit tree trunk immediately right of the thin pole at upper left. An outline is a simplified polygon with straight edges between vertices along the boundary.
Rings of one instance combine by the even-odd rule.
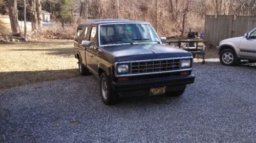
[[[31,19],[32,31],[38,30],[37,14],[36,14],[35,0],[29,0],[29,15]]]

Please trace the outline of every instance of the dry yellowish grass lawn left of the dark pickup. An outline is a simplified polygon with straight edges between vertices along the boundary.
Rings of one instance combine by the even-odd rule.
[[[78,77],[72,40],[0,43],[0,90],[42,81]]]

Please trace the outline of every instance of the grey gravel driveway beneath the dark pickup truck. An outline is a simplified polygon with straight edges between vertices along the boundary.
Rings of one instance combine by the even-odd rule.
[[[94,76],[0,93],[0,142],[256,142],[256,66],[194,64],[181,97],[101,102]]]

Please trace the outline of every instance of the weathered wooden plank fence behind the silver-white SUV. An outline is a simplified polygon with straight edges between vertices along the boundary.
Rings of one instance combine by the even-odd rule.
[[[205,16],[205,41],[218,46],[221,40],[244,36],[256,27],[256,17],[249,16]]]

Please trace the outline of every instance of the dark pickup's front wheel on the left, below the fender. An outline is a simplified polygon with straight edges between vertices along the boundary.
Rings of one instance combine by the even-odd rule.
[[[105,73],[101,73],[100,75],[99,88],[104,104],[112,105],[118,102],[118,94],[112,89],[110,81]]]

